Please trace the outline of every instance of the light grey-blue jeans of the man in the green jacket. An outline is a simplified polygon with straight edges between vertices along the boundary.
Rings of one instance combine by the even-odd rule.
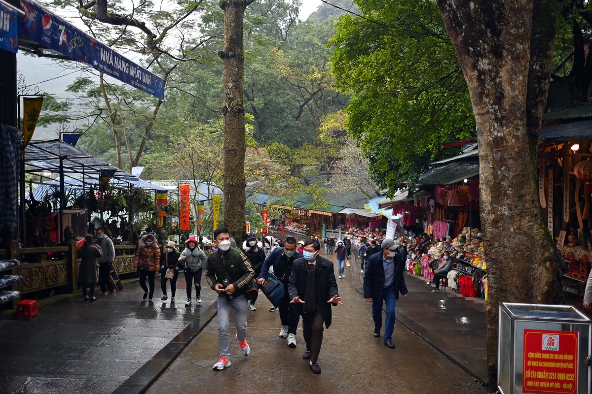
[[[234,325],[239,342],[247,338],[247,299],[239,295],[228,299],[226,294],[218,294],[218,346],[220,357],[230,359],[230,307],[234,308]]]

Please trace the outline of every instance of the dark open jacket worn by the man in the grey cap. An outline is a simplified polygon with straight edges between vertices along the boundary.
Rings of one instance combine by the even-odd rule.
[[[395,284],[396,299],[399,294],[407,294],[405,284],[405,263],[401,261],[400,255],[395,255]],[[364,273],[364,298],[382,300],[382,288],[384,287],[384,266],[382,265],[382,253],[374,253],[368,260],[366,272]]]

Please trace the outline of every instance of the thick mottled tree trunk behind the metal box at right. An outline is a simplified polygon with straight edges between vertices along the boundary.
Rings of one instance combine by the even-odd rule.
[[[438,4],[477,122],[489,283],[488,375],[495,386],[498,302],[549,303],[560,294],[561,264],[542,220],[536,186],[555,2],[438,0]]]

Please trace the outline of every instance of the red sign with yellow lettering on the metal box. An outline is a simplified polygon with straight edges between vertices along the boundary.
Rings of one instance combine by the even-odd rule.
[[[578,332],[524,330],[523,393],[578,390]]]

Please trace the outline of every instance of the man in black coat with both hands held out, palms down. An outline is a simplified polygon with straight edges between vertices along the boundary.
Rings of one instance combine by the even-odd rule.
[[[333,263],[318,255],[321,249],[317,239],[304,243],[303,258],[294,261],[288,282],[290,301],[302,315],[302,328],[306,351],[302,358],[310,360],[310,369],[321,373],[318,354],[323,343],[323,323],[331,325],[331,304],[342,304],[337,293]]]

